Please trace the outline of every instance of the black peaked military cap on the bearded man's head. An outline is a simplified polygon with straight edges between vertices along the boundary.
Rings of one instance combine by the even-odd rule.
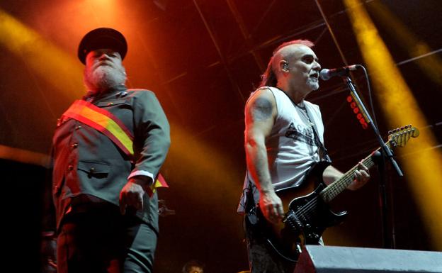
[[[92,50],[101,48],[110,48],[120,53],[121,60],[124,59],[126,52],[128,52],[128,43],[123,34],[113,28],[96,28],[89,31],[81,39],[78,57],[80,61],[86,65],[86,55]]]

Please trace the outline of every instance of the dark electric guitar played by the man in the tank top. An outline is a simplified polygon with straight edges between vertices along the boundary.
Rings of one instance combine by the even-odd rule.
[[[411,125],[398,128],[389,132],[386,145],[389,148],[403,147],[410,138],[417,136],[419,130]],[[379,150],[380,148],[365,157],[363,165],[373,167],[373,155]],[[319,162],[309,170],[302,186],[276,191],[286,211],[281,223],[266,221],[258,209],[259,219],[264,219],[260,222],[265,225],[263,230],[268,244],[285,260],[296,262],[301,245],[317,245],[326,228],[341,223],[346,217],[346,211],[334,213],[327,203],[353,182],[358,165],[327,186],[322,180],[322,173],[329,165],[329,162]]]

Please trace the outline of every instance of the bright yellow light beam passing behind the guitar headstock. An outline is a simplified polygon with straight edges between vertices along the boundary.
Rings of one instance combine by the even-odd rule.
[[[426,118],[404,82],[395,62],[383,43],[363,4],[358,0],[344,0],[348,16],[353,25],[358,45],[361,48],[378,101],[391,128],[411,123],[417,128],[426,126]],[[436,149],[436,140],[431,132],[421,133],[406,148],[397,149],[399,155],[407,150],[419,151],[411,158],[404,157],[404,175],[408,178],[416,204],[421,210],[436,250],[442,250],[442,155]]]

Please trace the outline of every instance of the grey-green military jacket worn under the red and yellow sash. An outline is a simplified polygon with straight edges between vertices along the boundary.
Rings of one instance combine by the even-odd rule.
[[[152,91],[111,89],[92,103],[122,121],[134,135],[130,158],[98,130],[62,116],[52,139],[52,197],[57,229],[72,200],[92,196],[119,206],[119,195],[130,174],[156,178],[169,150],[169,123]],[[158,231],[157,194],[145,196],[137,216]]]

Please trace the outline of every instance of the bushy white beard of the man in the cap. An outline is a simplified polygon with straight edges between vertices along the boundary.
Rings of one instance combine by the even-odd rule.
[[[103,91],[117,85],[125,84],[126,75],[120,69],[101,65],[94,70],[84,73],[84,84],[91,91]]]

